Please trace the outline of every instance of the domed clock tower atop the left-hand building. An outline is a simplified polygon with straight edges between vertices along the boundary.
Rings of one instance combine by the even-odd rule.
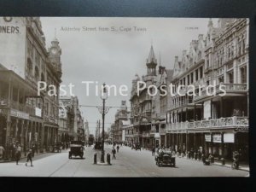
[[[57,38],[51,41],[49,48],[50,65],[55,68],[55,71],[61,75],[61,47]]]

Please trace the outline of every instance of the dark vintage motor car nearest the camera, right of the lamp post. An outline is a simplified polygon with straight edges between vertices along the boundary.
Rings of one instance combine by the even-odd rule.
[[[171,151],[160,151],[154,158],[157,166],[172,166],[175,167],[175,157]]]

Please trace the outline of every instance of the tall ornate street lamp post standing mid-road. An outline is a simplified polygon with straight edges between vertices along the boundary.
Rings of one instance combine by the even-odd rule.
[[[102,156],[101,156],[101,163],[104,163],[104,125],[105,125],[105,114],[108,113],[109,108],[105,107],[105,101],[106,99],[108,99],[108,91],[106,88],[106,84],[102,84],[102,94],[101,94],[101,98],[102,98],[102,108],[98,108],[99,112],[102,113]]]

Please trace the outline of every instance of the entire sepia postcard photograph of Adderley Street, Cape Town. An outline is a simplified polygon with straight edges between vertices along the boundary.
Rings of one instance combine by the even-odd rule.
[[[0,177],[250,177],[249,22],[0,17]]]

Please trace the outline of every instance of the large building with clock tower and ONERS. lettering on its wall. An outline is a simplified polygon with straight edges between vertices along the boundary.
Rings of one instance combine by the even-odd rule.
[[[61,48],[55,38],[45,48],[38,17],[0,18],[0,143],[9,148],[19,142],[48,148],[58,131],[58,91],[49,96],[49,85],[59,90]],[[38,81],[47,84],[38,94]]]

